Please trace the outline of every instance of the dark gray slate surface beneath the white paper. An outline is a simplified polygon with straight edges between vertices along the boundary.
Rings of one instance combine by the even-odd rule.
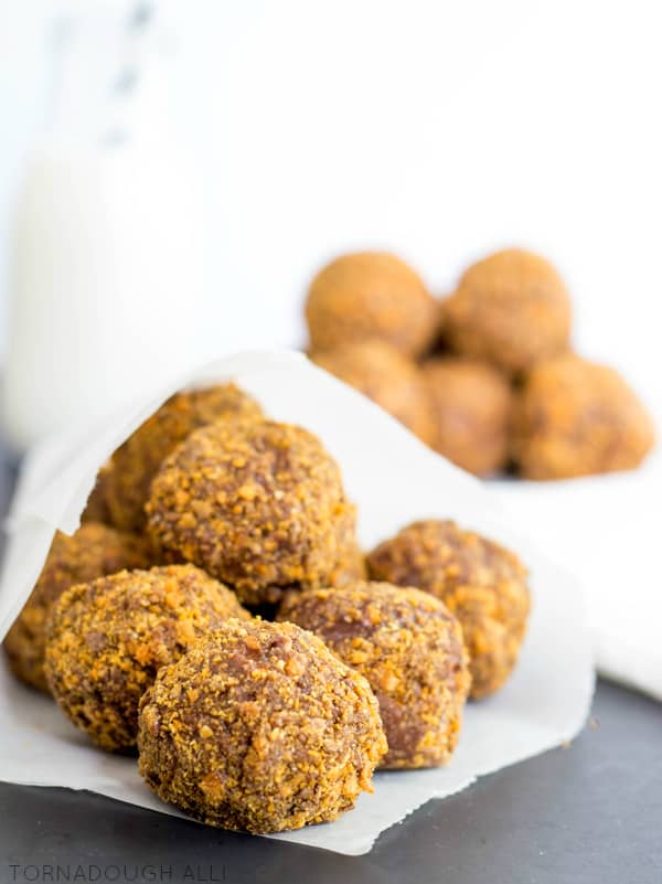
[[[87,792],[0,784],[0,882],[12,882],[10,863],[60,863],[72,874],[78,864],[128,865],[122,883],[138,864],[159,875],[166,866],[156,880],[169,882],[660,884],[662,707],[600,683],[594,715],[595,726],[568,748],[431,801],[357,858],[207,829]],[[17,881],[28,880],[21,874]]]

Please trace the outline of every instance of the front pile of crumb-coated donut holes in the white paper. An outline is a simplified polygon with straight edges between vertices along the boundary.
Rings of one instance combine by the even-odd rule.
[[[520,558],[450,520],[365,554],[320,439],[220,384],[115,451],[4,650],[164,801],[265,833],[335,819],[376,769],[448,764],[528,610]]]

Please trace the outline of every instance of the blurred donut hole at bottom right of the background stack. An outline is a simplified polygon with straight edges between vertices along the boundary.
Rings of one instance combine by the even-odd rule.
[[[633,469],[654,440],[620,374],[570,353],[536,365],[515,401],[513,459],[527,479]]]

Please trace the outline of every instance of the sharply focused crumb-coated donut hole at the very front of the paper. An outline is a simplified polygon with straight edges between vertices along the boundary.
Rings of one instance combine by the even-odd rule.
[[[139,768],[164,801],[254,833],[350,810],[386,750],[365,679],[292,624],[231,621],[161,670]]]

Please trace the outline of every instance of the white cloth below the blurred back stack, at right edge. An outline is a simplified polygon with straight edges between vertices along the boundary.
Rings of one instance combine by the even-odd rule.
[[[598,670],[662,700],[662,456],[631,472],[492,491],[581,585]]]

